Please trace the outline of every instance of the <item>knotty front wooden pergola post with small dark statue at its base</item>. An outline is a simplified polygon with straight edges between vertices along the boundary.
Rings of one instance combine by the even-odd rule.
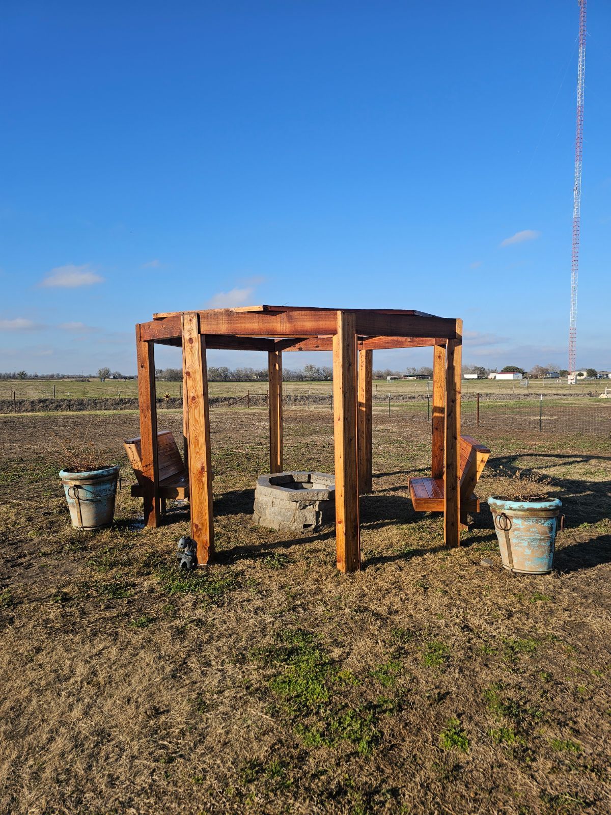
[[[205,337],[200,335],[200,318],[196,312],[185,312],[181,319],[186,390],[184,396],[187,399],[191,538],[197,544],[197,565],[205,566],[214,557],[206,343]]]

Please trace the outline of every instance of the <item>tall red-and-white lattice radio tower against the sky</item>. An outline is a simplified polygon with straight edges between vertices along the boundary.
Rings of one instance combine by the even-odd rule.
[[[573,258],[571,260],[571,312],[569,320],[569,385],[577,378],[577,275],[579,226],[582,205],[583,81],[586,73],[586,3],[579,4],[579,60],[577,71],[577,127],[575,131],[575,186],[573,188]]]

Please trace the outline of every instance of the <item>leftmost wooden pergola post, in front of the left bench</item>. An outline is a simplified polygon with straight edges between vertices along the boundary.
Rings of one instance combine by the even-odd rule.
[[[152,342],[140,339],[136,326],[138,359],[138,403],[140,407],[140,457],[143,475],[143,511],[146,526],[160,526],[159,465],[157,461],[157,403],[155,350]]]

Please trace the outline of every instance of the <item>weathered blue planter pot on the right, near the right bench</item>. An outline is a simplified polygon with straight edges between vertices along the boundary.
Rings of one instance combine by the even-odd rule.
[[[503,568],[522,575],[547,575],[552,571],[554,544],[562,502],[504,501],[489,498],[495,519]],[[561,516],[560,523],[564,520]]]

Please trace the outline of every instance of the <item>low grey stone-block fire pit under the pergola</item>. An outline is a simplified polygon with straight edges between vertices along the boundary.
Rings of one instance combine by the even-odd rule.
[[[335,521],[335,476],[304,472],[259,476],[253,520],[271,529],[318,531]]]

